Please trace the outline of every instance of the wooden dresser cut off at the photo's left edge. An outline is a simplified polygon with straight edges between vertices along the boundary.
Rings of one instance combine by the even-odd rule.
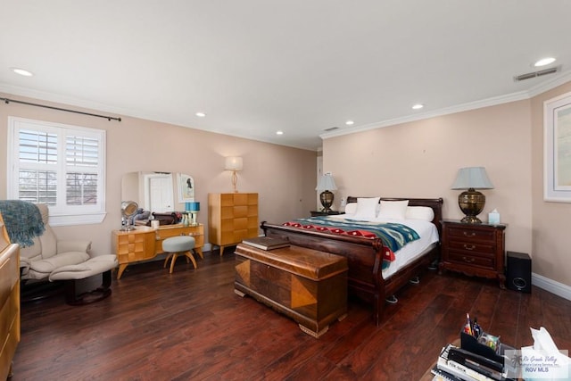
[[[20,246],[10,244],[0,215],[0,379],[12,375],[20,343]]]

